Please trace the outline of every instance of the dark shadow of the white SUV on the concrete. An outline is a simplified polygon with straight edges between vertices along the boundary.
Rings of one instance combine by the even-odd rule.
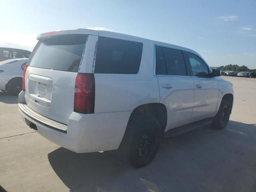
[[[49,162],[70,191],[255,191],[256,126],[230,121],[164,138],[156,158],[135,169],[115,151],[76,154],[64,148]]]

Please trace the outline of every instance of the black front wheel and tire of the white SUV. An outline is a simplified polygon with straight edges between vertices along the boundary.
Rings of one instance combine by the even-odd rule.
[[[214,120],[211,124],[212,128],[218,129],[218,130],[224,129],[228,124],[230,112],[231,112],[230,102],[226,99],[223,99],[220,104],[218,113],[214,117]]]

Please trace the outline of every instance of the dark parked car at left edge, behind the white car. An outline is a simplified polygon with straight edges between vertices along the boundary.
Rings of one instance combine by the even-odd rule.
[[[14,48],[6,48],[0,47],[0,61],[13,59],[13,58],[29,58],[31,54],[30,51],[23,49],[14,49]]]

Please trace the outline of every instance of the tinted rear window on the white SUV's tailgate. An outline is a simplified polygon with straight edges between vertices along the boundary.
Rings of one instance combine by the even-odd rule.
[[[88,35],[70,34],[40,40],[30,66],[78,72]]]

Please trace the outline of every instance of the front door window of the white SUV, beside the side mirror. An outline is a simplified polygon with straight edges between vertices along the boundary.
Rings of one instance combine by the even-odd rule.
[[[191,66],[192,76],[198,76],[198,73],[209,74],[208,66],[195,54],[187,52],[188,61]]]

